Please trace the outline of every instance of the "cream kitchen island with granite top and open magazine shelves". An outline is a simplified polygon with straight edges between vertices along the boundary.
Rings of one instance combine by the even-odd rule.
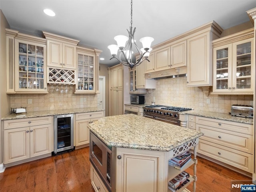
[[[168,181],[192,164],[194,175],[190,176],[190,182],[194,181],[195,190],[196,145],[202,132],[134,114],[104,117],[88,128],[112,149],[112,192],[169,192]],[[191,164],[181,170],[168,166],[168,160],[192,148],[194,161]],[[98,187],[109,190],[104,176],[92,164],[91,179],[96,191]]]

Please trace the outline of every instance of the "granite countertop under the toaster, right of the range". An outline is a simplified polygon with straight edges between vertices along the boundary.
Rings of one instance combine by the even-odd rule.
[[[253,124],[253,118],[237,117],[237,116],[232,116],[228,113],[189,110],[189,111],[181,112],[180,114],[189,114],[189,115],[195,115],[195,116],[200,116],[200,117],[208,117],[208,118],[213,118],[213,119],[220,119],[220,120],[227,120],[227,121],[233,121],[233,122],[239,122],[239,123]]]

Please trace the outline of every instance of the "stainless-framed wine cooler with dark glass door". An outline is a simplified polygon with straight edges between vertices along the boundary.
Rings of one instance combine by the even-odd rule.
[[[54,154],[74,148],[74,114],[54,116]]]

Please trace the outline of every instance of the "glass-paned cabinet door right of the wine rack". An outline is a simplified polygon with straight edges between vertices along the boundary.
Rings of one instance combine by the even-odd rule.
[[[95,93],[95,55],[77,51],[77,84],[75,93]]]

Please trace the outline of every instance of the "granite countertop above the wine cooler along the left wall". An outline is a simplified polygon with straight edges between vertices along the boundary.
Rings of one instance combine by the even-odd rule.
[[[64,114],[76,114],[76,113],[86,113],[86,112],[96,112],[96,111],[104,111],[104,110],[98,109],[97,107],[62,109],[62,110],[46,110],[46,111],[26,112],[26,113],[20,113],[20,114],[8,114],[4,116],[1,120],[44,117],[44,116],[54,116],[54,115],[64,115]]]

